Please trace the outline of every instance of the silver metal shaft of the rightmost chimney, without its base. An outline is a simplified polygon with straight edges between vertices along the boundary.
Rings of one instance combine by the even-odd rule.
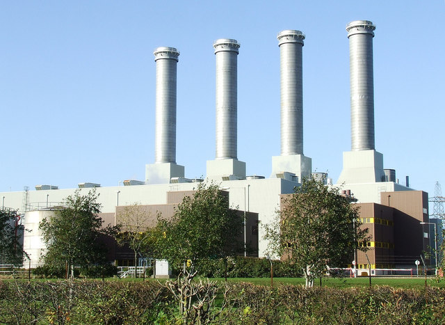
[[[375,25],[356,20],[346,25],[350,60],[351,150],[375,150],[373,37]]]

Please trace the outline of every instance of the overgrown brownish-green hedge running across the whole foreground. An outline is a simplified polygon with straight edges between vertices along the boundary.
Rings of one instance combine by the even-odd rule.
[[[444,324],[445,290],[305,288],[195,281],[0,281],[1,324]]]

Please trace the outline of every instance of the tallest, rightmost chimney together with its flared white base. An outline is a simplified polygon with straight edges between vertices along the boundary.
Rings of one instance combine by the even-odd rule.
[[[383,154],[375,151],[374,30],[375,25],[369,20],[355,20],[346,25],[349,38],[351,150],[343,152],[343,170],[337,180],[337,184],[341,185],[385,182],[386,178]],[[362,202],[370,199],[363,193],[356,198]]]

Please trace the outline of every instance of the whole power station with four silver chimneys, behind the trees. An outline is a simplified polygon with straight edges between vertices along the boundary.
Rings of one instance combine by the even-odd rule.
[[[245,236],[257,241],[255,255],[264,257],[268,243],[264,227],[275,219],[280,196],[293,193],[304,177],[317,177],[326,186],[335,185],[344,195],[353,196],[361,206],[359,218],[369,228],[369,260],[373,274],[385,269],[413,267],[414,261],[430,245],[428,193],[399,184],[394,169],[385,169],[383,154],[375,150],[373,37],[375,25],[367,20],[346,26],[350,47],[350,131],[351,149],[343,152],[343,170],[337,182],[326,173],[313,173],[312,159],[303,151],[302,49],[305,34],[296,30],[277,35],[280,47],[281,154],[272,157],[270,175],[246,175],[246,163],[237,152],[237,69],[240,43],[222,38],[213,43],[216,56],[216,154],[207,161],[203,179],[186,178],[185,167],[176,161],[177,64],[175,47],[158,47],[156,62],[155,161],[145,166],[145,180],[127,180],[123,186],[100,187],[79,184],[81,191],[95,187],[107,223],[116,222],[122,206],[139,203],[152,212],[170,211],[181,193],[193,193],[197,182],[213,181],[229,193],[229,204],[251,216]],[[344,125],[343,127],[346,127]],[[40,265],[44,250],[38,223],[53,212],[76,189],[38,185],[35,191],[3,192],[3,207],[23,215],[24,250],[31,267]],[[172,199],[176,198],[176,199]],[[156,213],[153,214],[156,218]],[[421,224],[422,223],[422,224]],[[114,257],[114,260],[119,260]],[[366,257],[357,256],[359,269],[367,270]],[[432,260],[430,264],[434,264]],[[415,267],[415,266],[414,266]],[[380,271],[379,271],[380,270]]]

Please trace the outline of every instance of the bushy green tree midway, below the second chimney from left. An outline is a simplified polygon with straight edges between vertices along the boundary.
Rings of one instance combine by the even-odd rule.
[[[243,219],[229,208],[227,198],[215,184],[200,183],[191,197],[186,196],[172,219],[158,221],[158,253],[180,270],[190,261],[199,269],[202,260],[234,255],[241,247],[238,237]]]

